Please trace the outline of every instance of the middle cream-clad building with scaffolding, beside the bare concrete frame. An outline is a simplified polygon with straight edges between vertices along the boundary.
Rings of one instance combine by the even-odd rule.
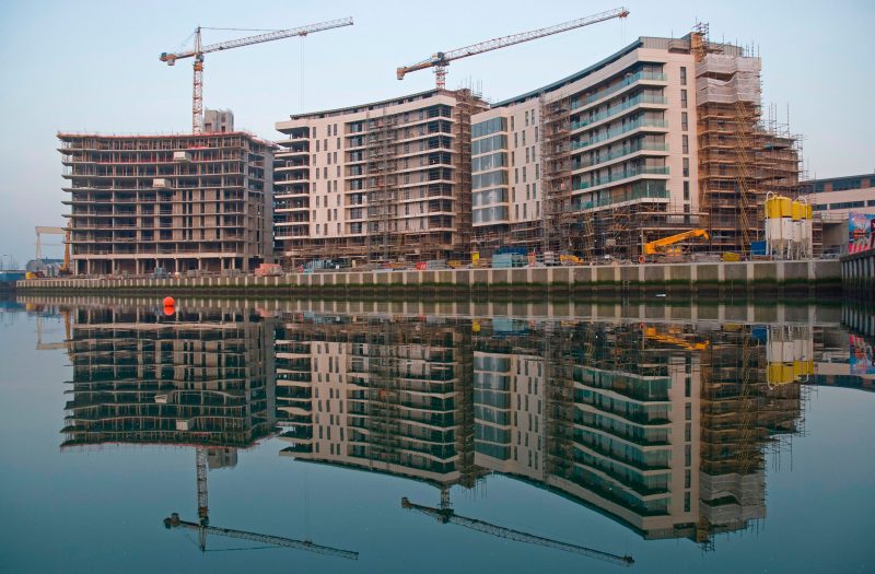
[[[419,261],[470,251],[468,90],[292,116],[275,162],[275,242],[317,258]]]

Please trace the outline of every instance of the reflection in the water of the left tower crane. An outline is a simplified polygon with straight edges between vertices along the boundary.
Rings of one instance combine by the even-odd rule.
[[[351,550],[341,550],[339,548],[331,548],[322,544],[315,544],[310,540],[294,540],[292,538],[283,538],[279,536],[261,535],[257,532],[247,532],[245,530],[234,530],[231,528],[218,528],[210,526],[210,512],[208,508],[208,490],[207,490],[207,448],[198,446],[195,449],[195,464],[197,467],[198,480],[198,522],[191,523],[179,518],[179,513],[173,513],[167,518],[164,518],[164,527],[171,528],[187,528],[198,534],[198,546],[201,552],[207,551],[207,535],[225,536],[229,538],[238,538],[242,540],[252,540],[264,544],[272,544],[278,547],[296,548],[299,550],[306,550],[307,552],[315,552],[317,554],[328,554],[332,557],[346,558],[348,560],[359,560],[359,553]]]

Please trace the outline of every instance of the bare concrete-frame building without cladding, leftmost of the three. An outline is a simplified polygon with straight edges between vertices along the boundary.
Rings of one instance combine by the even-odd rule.
[[[229,121],[202,134],[58,133],[73,272],[246,271],[269,257],[272,145]]]

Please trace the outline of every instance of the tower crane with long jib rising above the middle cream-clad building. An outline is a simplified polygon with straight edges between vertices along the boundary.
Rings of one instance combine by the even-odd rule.
[[[542,38],[544,36],[551,36],[553,34],[559,34],[560,32],[588,26],[590,24],[596,24],[598,22],[604,22],[615,17],[626,17],[628,15],[629,11],[621,7],[614,10],[608,10],[607,12],[600,12],[591,16],[557,24],[555,26],[548,26],[546,28],[538,28],[530,32],[523,32],[522,34],[513,34],[511,36],[494,38],[487,42],[481,42],[479,44],[472,44],[464,48],[458,48],[456,50],[439,51],[436,54],[432,54],[430,58],[427,58],[421,62],[398,68],[398,80],[404,80],[404,77],[410,72],[424,70],[425,68],[434,68],[434,77],[436,80],[438,90],[443,90],[446,86],[446,68],[453,60],[513,46],[514,44],[521,44],[530,39]]]

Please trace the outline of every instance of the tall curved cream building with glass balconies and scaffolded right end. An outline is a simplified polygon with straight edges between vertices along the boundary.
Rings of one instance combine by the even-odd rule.
[[[632,258],[704,227],[702,249],[745,251],[798,181],[797,140],[766,124],[758,57],[704,26],[641,37],[474,117],[475,248]]]

